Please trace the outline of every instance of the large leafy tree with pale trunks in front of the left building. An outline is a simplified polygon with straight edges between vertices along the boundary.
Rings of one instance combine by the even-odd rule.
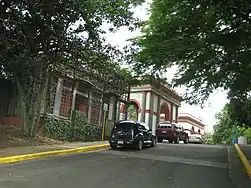
[[[17,84],[26,135],[36,134],[51,72],[79,67],[90,60],[90,52],[104,52],[100,26],[104,22],[115,28],[133,26],[131,7],[142,2],[1,1],[0,70]],[[95,55],[92,59],[100,60]]]

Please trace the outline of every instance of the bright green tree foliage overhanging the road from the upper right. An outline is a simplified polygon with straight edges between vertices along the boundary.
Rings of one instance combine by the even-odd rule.
[[[178,66],[185,99],[203,103],[216,88],[251,90],[250,1],[153,0],[151,16],[134,39],[140,73]]]

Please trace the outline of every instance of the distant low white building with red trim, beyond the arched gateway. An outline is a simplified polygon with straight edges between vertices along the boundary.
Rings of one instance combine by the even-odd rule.
[[[205,134],[205,124],[203,121],[189,113],[179,113],[179,124],[186,129],[188,135],[190,134]]]

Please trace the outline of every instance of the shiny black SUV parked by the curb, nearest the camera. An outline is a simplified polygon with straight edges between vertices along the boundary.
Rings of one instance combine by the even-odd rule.
[[[156,146],[156,136],[147,124],[137,121],[120,121],[112,129],[109,140],[112,149],[131,146],[142,150],[145,145]]]

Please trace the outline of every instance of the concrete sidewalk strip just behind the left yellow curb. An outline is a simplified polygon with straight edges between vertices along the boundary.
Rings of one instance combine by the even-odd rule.
[[[54,150],[65,150],[74,149],[85,146],[95,146],[99,144],[108,144],[107,141],[101,142],[74,142],[61,145],[43,145],[33,147],[15,147],[15,148],[4,148],[0,149],[0,158],[9,157],[14,155],[34,154],[39,152],[54,151]]]

